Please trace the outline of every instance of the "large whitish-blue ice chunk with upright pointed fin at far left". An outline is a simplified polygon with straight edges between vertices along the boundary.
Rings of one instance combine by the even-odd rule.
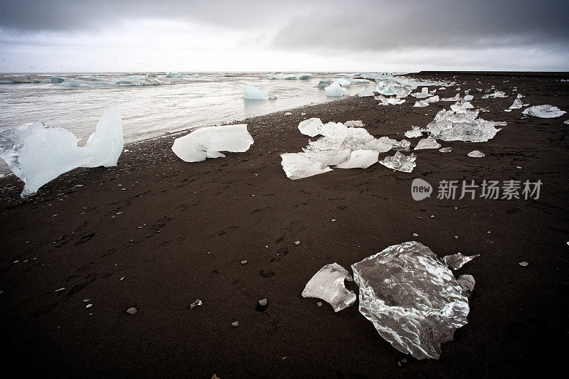
[[[102,114],[85,146],[66,129],[41,122],[0,132],[0,158],[25,183],[22,197],[78,167],[117,166],[124,140],[118,103]]]

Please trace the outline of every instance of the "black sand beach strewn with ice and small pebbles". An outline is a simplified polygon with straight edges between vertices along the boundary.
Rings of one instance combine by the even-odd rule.
[[[181,134],[152,139],[126,146],[116,168],[71,171],[26,200],[14,176],[0,178],[4,367],[21,377],[184,378],[494,378],[565,367],[568,117],[504,110],[517,93],[569,110],[569,83],[562,75],[454,76],[422,78],[455,80],[489,110],[480,117],[508,125],[489,142],[440,142],[452,146],[448,154],[415,152],[411,174],[375,164],[292,181],[280,154],[307,145],[303,119],[362,120],[376,137],[402,139],[452,102],[415,108],[408,97],[382,107],[351,97],[246,119],[249,151],[193,164],[170,149]],[[477,88],[492,85],[509,96],[481,100]],[[486,156],[469,158],[474,149]],[[413,178],[543,185],[538,200],[440,200],[435,189],[413,201]],[[396,351],[357,304],[334,313],[301,297],[323,265],[349,268],[410,240],[441,257],[480,255],[457,271],[477,282],[469,323],[439,360]],[[257,311],[263,298],[267,309]],[[196,299],[203,305],[191,309]]]

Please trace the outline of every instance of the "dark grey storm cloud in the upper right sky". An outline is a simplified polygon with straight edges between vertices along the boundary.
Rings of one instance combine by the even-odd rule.
[[[569,46],[569,1],[366,1],[292,18],[283,48]]]

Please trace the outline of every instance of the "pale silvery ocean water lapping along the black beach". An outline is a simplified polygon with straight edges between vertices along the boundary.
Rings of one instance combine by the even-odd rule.
[[[104,110],[112,102],[120,102],[124,140],[137,142],[181,129],[338,100],[339,97],[326,97],[326,92],[317,88],[319,81],[353,78],[357,74],[326,73],[308,80],[270,79],[267,73],[198,75],[0,75],[0,131],[41,121],[50,127],[70,130],[84,143]],[[65,81],[52,83],[52,76]],[[244,100],[245,83],[275,94],[277,99]],[[350,95],[366,85],[370,84],[354,83],[349,87]]]

